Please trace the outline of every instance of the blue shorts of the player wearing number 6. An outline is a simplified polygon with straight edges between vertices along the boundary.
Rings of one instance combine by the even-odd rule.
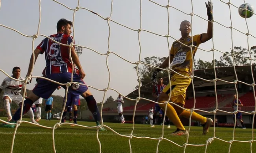
[[[51,75],[46,76],[46,78],[51,79],[53,81],[59,82],[59,83],[67,83],[71,81],[71,73],[70,72],[64,72],[64,73],[54,73]],[[73,82],[78,83],[84,83],[83,79],[78,75],[73,75]],[[42,97],[44,99],[49,98],[52,93],[59,87],[59,84],[47,81],[45,79],[38,79],[37,85],[33,89],[33,93],[37,95],[38,97]],[[61,86],[64,89],[66,89],[66,86]],[[74,96],[79,96],[85,91],[88,90],[88,87],[86,85],[78,85],[75,83],[72,83],[72,85],[68,88],[68,91],[72,93]]]

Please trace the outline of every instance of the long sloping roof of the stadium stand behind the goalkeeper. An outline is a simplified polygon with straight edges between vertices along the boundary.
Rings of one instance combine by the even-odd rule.
[[[251,66],[236,66],[235,70],[234,70],[233,66],[231,66],[231,67],[216,67],[215,70],[214,70],[214,68],[209,68],[209,69],[194,71],[194,76],[197,76],[197,77],[200,77],[203,79],[207,79],[210,81],[215,79],[215,72],[216,72],[217,78],[230,78],[231,76],[233,76],[235,79],[236,75],[237,75],[238,80],[248,80],[248,79],[251,79],[250,76],[252,76],[252,74],[253,74],[254,78],[256,76],[256,65],[252,65],[252,67]],[[202,79],[197,78],[197,77],[194,77],[194,79],[193,79],[194,82],[202,81]],[[163,78],[163,80],[164,80],[165,84],[167,84],[169,82],[168,77]],[[230,81],[230,80],[226,80],[226,81]],[[251,84],[251,83],[249,83],[249,84]],[[140,87],[140,93],[151,93],[152,85],[154,85],[154,83],[150,82],[147,85]],[[138,89],[129,93],[127,95],[127,97],[133,97],[135,94],[136,95],[138,94]]]

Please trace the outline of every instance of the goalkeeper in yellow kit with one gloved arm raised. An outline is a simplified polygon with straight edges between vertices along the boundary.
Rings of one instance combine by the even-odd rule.
[[[212,23],[210,22],[213,19],[212,16],[212,4],[208,1],[206,3],[207,15],[208,15],[208,29],[207,33],[200,35],[194,35],[193,38],[190,36],[191,32],[191,23],[189,21],[182,21],[180,24],[181,38],[178,41],[173,42],[172,48],[170,50],[170,63],[172,63],[172,69],[177,73],[173,73],[171,82],[163,89],[162,93],[159,96],[158,102],[164,103],[168,101],[169,96],[171,95],[170,101],[176,103],[178,106],[184,108],[186,90],[191,83],[191,78],[185,78],[184,76],[192,75],[192,66],[193,59],[192,56],[195,56],[197,47],[204,42],[207,42],[212,38]],[[193,40],[193,43],[192,43]],[[181,43],[187,45],[183,45]],[[192,52],[190,45],[193,44]],[[195,47],[196,46],[196,47]],[[169,66],[169,58],[167,58],[160,66],[160,68],[166,68]],[[157,82],[157,74],[161,69],[156,69],[152,75],[152,81]],[[181,76],[184,75],[184,76]],[[170,91],[171,90],[171,91]],[[160,105],[162,109],[165,109],[165,105]],[[187,135],[188,130],[182,125],[179,117],[190,117],[191,111],[188,111],[178,107],[176,105],[168,103],[166,115],[177,127],[177,130],[172,133],[172,135]],[[192,120],[199,121],[203,125],[203,135],[206,135],[209,131],[209,127],[212,124],[211,118],[203,117],[195,112],[192,113]]]

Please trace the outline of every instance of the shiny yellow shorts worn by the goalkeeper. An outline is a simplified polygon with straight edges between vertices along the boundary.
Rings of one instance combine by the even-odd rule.
[[[178,73],[184,76],[190,76],[188,72],[178,72]],[[170,101],[185,105],[186,90],[191,83],[191,78],[185,78],[184,76],[181,76],[179,74],[174,73],[172,75],[171,83],[169,82],[162,92],[170,96],[170,87],[172,86]]]

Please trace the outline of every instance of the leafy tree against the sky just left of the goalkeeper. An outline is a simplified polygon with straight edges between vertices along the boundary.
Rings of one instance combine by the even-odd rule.
[[[162,64],[165,59],[166,59],[166,57],[159,58],[159,57],[156,57],[156,56],[152,56],[152,57],[146,57],[143,60],[141,60],[140,62],[159,67],[160,64]],[[142,86],[151,82],[151,75],[155,70],[154,67],[148,66],[146,64],[140,64],[139,67],[138,67],[140,82],[141,82]],[[133,68],[136,70],[137,66],[135,66]],[[168,76],[168,74],[167,74],[166,71],[161,71],[161,72],[159,72],[158,76],[159,77],[166,77],[166,76]],[[139,79],[137,81],[139,82]],[[138,86],[136,86],[136,89],[138,89]]]

